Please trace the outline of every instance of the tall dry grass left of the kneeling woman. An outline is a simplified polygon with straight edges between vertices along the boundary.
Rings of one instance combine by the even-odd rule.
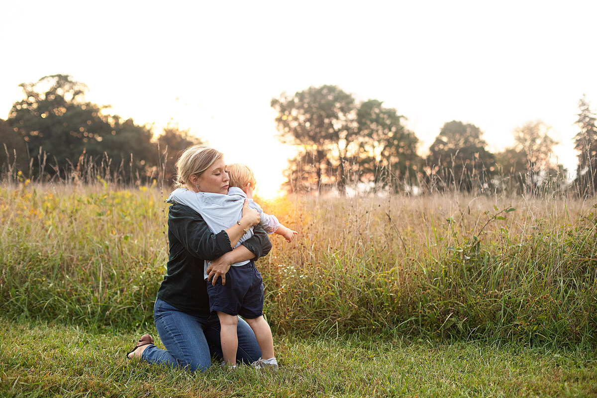
[[[86,325],[147,322],[168,255],[161,196],[104,181],[2,186],[2,310]]]

